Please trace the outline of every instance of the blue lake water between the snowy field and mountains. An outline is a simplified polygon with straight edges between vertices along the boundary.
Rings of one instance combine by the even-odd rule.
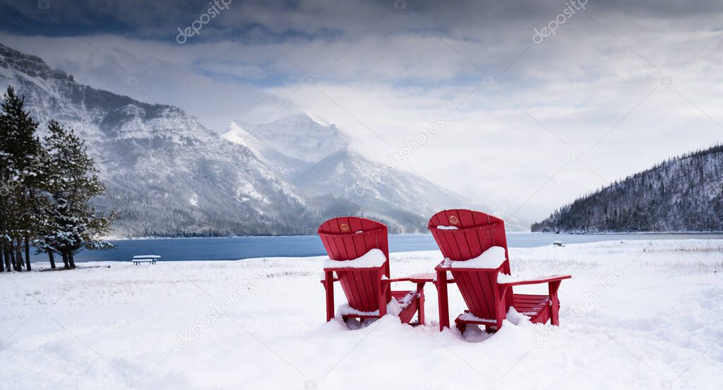
[[[563,244],[620,239],[723,239],[723,233],[637,233],[637,234],[553,234],[508,233],[510,247],[539,247],[561,241]],[[164,261],[241,260],[263,257],[302,257],[325,255],[317,236],[213,237],[167,239],[121,239],[111,241],[112,250],[84,250],[76,261],[123,261],[133,255],[161,255]],[[392,234],[391,252],[437,250],[431,234]],[[33,261],[47,261],[47,255],[35,255]]]

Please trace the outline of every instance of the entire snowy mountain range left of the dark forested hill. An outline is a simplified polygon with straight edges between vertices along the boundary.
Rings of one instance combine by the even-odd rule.
[[[378,219],[391,232],[425,232],[440,208],[492,210],[388,171],[309,113],[233,122],[219,135],[177,107],[82,85],[0,44],[0,88],[7,85],[25,96],[41,131],[56,119],[86,141],[108,187],[95,203],[119,211],[119,236],[312,233],[344,214]]]

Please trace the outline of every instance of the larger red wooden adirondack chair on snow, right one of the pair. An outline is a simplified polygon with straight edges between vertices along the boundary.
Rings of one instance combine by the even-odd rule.
[[[437,226],[442,226],[438,228]],[[456,229],[455,229],[456,228]],[[447,284],[456,283],[469,310],[455,319],[457,328],[464,332],[468,323],[484,325],[487,331],[502,326],[509,308],[527,315],[533,323],[560,325],[560,300],[557,289],[560,281],[570,275],[500,283],[497,275],[510,274],[510,258],[505,236],[505,221],[479,211],[445,210],[429,219],[427,229],[432,232],[445,260],[436,268],[435,284],[439,291],[440,331],[449,327]],[[496,268],[465,268],[466,260],[474,259],[490,247],[503,247],[505,257]],[[450,271],[453,279],[447,278]],[[447,280],[447,283],[443,281]],[[442,282],[440,282],[442,281]],[[548,295],[515,294],[513,286],[522,284],[548,284]]]

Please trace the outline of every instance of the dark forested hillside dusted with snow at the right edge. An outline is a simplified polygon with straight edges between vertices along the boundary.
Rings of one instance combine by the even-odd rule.
[[[723,231],[723,145],[672,158],[565,205],[533,232]]]

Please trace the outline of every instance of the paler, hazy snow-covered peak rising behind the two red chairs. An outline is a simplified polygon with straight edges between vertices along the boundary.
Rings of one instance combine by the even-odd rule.
[[[429,216],[441,208],[492,210],[417,174],[361,156],[349,147],[348,135],[309,114],[260,126],[231,122],[223,136],[254,151],[308,199],[353,203],[361,213],[384,221],[394,231],[424,232]],[[508,224],[521,228],[515,219]]]

